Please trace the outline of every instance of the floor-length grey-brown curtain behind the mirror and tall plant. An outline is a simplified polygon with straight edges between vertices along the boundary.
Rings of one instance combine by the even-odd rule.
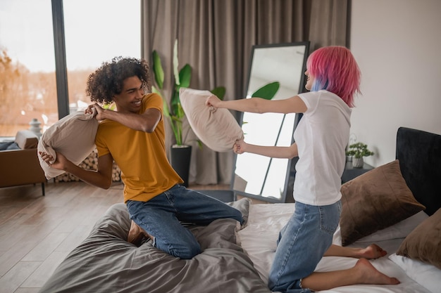
[[[311,50],[347,44],[350,0],[142,0],[142,58],[161,54],[166,98],[173,85],[173,44],[180,67],[192,66],[193,89],[225,86],[225,100],[244,96],[251,47],[310,41]],[[237,113],[234,113],[237,114]],[[190,131],[187,141],[196,137]],[[167,149],[173,134],[166,120]],[[193,146],[190,183],[228,184],[233,152]]]

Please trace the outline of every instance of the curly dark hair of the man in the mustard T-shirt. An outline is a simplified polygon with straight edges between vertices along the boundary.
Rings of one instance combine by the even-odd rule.
[[[111,62],[104,62],[87,78],[87,96],[92,102],[110,104],[113,96],[123,91],[123,81],[137,76],[142,86],[151,92],[149,63],[137,58],[115,57]]]

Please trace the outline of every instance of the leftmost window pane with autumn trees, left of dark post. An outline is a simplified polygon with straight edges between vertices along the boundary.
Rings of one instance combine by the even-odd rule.
[[[0,1],[0,136],[58,119],[51,0]]]

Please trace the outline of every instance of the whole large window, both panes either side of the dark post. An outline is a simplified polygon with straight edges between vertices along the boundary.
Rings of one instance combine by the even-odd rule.
[[[62,1],[62,0],[53,0]],[[141,56],[140,0],[63,0],[70,112],[90,103],[87,77],[115,56]],[[0,1],[0,136],[58,121],[51,0]],[[66,70],[66,68],[64,69]],[[66,100],[66,98],[64,98]],[[66,104],[65,104],[66,105]]]

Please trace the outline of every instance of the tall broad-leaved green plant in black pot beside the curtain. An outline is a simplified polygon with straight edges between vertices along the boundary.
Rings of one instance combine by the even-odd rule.
[[[158,93],[163,98],[163,114],[169,119],[171,129],[175,138],[175,142],[171,146],[171,164],[173,169],[180,175],[184,181],[184,185],[188,186],[188,175],[190,170],[190,157],[192,154],[192,146],[187,145],[187,135],[190,128],[184,133],[182,131],[182,122],[185,119],[185,112],[182,109],[180,103],[179,91],[180,88],[188,88],[192,78],[192,67],[187,63],[180,70],[178,65],[178,40],[175,40],[173,46],[173,75],[174,86],[170,103],[164,98],[163,83],[164,83],[164,71],[161,64],[161,58],[159,53],[154,50],[153,57],[153,72],[154,72],[154,86],[151,90],[154,93]],[[225,95],[225,87],[219,86],[216,89],[211,90],[211,93],[223,98]],[[199,148],[202,147],[201,141],[197,140]]]

